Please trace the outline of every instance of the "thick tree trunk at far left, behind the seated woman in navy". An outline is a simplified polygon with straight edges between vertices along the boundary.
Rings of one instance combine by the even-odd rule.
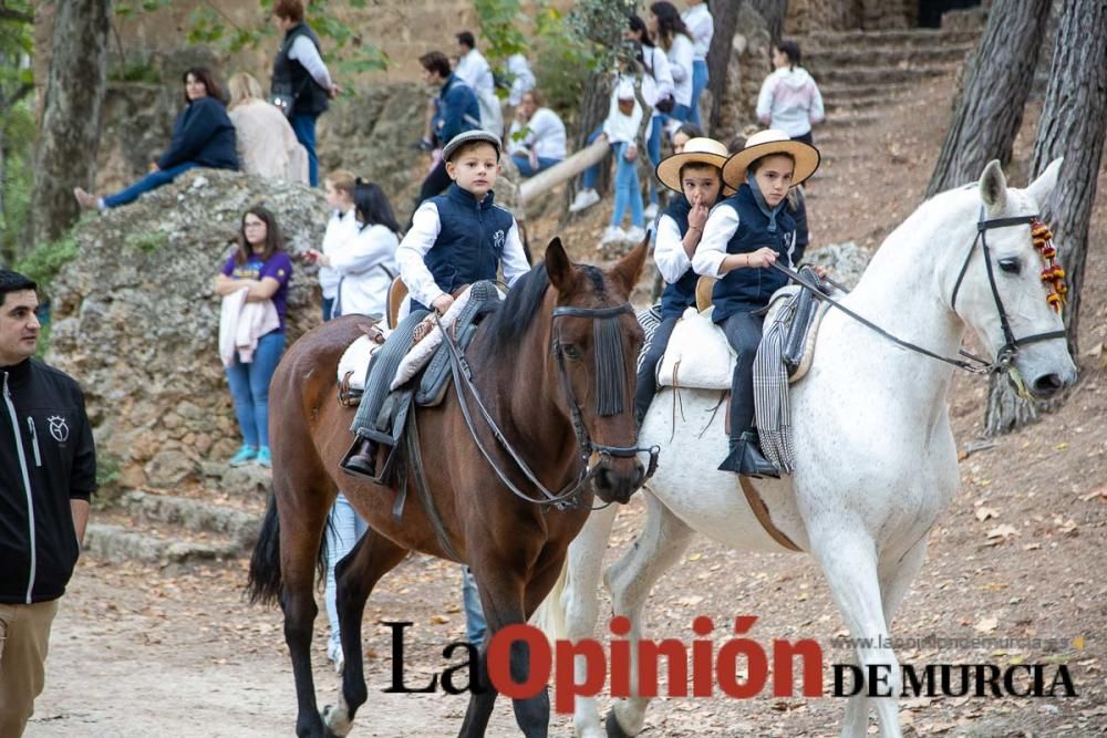
[[[107,84],[111,0],[55,4],[31,207],[32,245],[61,236],[80,210],[73,187],[92,189]]]

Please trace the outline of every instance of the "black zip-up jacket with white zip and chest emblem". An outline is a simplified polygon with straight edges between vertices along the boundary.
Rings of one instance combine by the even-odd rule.
[[[70,500],[96,488],[92,428],[77,383],[34,358],[0,366],[0,602],[49,602],[80,553]]]

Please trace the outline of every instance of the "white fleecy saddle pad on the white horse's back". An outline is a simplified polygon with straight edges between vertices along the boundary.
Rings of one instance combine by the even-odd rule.
[[[659,362],[658,384],[666,387],[730,389],[735,354],[723,329],[706,312],[689,308],[676,322],[665,355]]]

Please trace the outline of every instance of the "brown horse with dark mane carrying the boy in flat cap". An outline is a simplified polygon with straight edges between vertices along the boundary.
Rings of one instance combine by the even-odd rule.
[[[466,387],[465,406],[455,374],[439,406],[415,410],[433,506],[424,506],[413,475],[405,474],[401,484],[411,493],[399,522],[392,512],[399,485],[379,486],[339,466],[351,443],[353,410],[335,402],[335,367],[368,319],[325,323],[281,360],[269,394],[273,496],[250,562],[248,591],[254,601],[279,599],[284,612],[298,736],[349,731],[368,696],[361,646],[365,602],[408,552],[456,558],[472,568],[490,640],[505,626],[526,623],[552,588],[569,542],[588,518],[593,491],[604,502],[627,502],[641,486],[643,467],[632,447],[634,357],[643,336],[628,298],[645,250],[643,242],[603,271],[572,263],[560,240],[550,242],[546,262],[523,277],[480,324],[467,357],[475,393]],[[478,398],[506,443],[470,409]],[[535,480],[546,490],[570,490],[575,503],[549,501]],[[318,611],[312,586],[339,485],[370,530],[337,568],[345,666],[339,706],[320,715],[309,653]],[[441,516],[437,530],[428,508]],[[510,674],[519,684],[529,674],[525,643],[513,645]],[[484,735],[496,699],[485,647],[479,677],[484,690],[473,690],[462,736]],[[515,699],[514,707],[525,736],[547,735],[545,689]]]

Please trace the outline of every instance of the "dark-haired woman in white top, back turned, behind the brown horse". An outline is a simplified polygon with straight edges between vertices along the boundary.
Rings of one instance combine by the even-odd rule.
[[[333,254],[309,251],[323,267],[339,274],[333,318],[384,315],[389,287],[399,273],[396,249],[400,225],[384,190],[360,178],[353,190],[358,230],[346,246]]]

